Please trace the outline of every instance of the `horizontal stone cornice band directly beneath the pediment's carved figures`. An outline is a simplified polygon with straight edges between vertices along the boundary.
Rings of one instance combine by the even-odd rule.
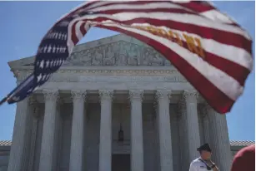
[[[51,82],[90,82],[90,81],[158,81],[158,82],[184,82],[188,81],[178,73],[168,74],[172,71],[159,70],[61,70],[49,78]],[[30,72],[29,72],[30,74]],[[25,80],[29,74],[24,74],[18,81]],[[168,76],[166,76],[168,75]],[[108,76],[108,77],[107,77]],[[107,79],[106,79],[107,78]]]

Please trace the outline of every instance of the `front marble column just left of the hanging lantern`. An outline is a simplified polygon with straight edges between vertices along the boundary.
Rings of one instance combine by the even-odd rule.
[[[101,101],[99,171],[111,171],[113,90],[99,90]]]

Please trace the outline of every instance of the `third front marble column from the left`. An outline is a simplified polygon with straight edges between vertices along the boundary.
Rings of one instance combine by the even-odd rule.
[[[83,170],[83,133],[85,123],[84,100],[85,92],[72,90],[73,121],[71,133],[69,171]]]

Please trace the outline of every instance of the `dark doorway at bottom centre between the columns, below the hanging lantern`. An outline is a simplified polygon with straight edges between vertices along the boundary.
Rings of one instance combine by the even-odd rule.
[[[130,171],[130,154],[112,154],[112,171]]]

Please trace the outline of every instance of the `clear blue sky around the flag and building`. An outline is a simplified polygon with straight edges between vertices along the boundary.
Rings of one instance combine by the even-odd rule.
[[[63,14],[81,2],[0,2],[1,58],[0,98],[16,83],[8,61],[33,56],[44,34]],[[213,2],[242,25],[255,40],[254,2]],[[98,28],[91,29],[82,42],[90,42],[117,34]],[[253,44],[254,54],[254,44]],[[227,114],[229,139],[255,139],[255,71],[248,76],[243,95]],[[16,105],[0,106],[0,140],[12,139]]]

